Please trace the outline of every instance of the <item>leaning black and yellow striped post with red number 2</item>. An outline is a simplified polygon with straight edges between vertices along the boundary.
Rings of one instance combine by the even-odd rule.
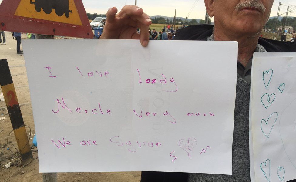
[[[22,117],[21,109],[18,103],[18,98],[15,93],[15,88],[12,82],[12,77],[8,67],[7,59],[0,60],[0,85],[7,106],[7,111],[10,117],[12,128],[18,143],[18,150],[24,164],[33,160],[27,131]]]

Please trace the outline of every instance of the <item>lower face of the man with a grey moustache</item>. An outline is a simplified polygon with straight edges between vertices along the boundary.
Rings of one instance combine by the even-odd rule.
[[[228,31],[257,33],[269,18],[274,0],[214,0],[214,22]]]

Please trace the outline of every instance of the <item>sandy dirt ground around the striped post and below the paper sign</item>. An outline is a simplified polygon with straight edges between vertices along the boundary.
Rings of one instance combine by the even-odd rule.
[[[12,33],[5,32],[5,35],[7,45],[0,45],[0,59],[8,60],[8,65],[12,74],[12,80],[14,82],[18,102],[21,106],[24,123],[32,130],[32,136],[30,136],[30,129],[29,127],[26,127],[28,136],[31,139],[29,143],[32,147],[33,157],[35,160],[23,166],[21,164],[21,160],[16,158],[16,156],[13,154],[16,153],[16,150],[12,144],[17,146],[17,143],[13,132],[8,137],[8,141],[11,143],[8,143],[9,146],[7,146],[7,136],[12,131],[12,126],[7,113],[5,101],[0,101],[0,117],[7,118],[0,120],[0,181],[42,182],[42,173],[39,173],[38,167],[38,148],[34,148],[32,145],[35,127],[24,56],[16,54],[16,40],[12,39]],[[22,39],[26,38],[26,34],[22,34]],[[1,89],[0,93],[2,93]],[[13,153],[8,150],[8,147]],[[11,162],[12,166],[6,168],[4,165],[8,164],[8,162]],[[59,182],[132,182],[140,181],[140,177],[141,172],[58,173]]]

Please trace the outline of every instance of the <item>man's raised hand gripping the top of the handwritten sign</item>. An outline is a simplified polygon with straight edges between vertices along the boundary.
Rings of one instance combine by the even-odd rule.
[[[117,11],[116,7],[108,10],[100,39],[140,39],[141,44],[147,46],[152,23],[150,17],[134,5],[125,5],[118,14]],[[137,32],[138,28],[141,34]]]

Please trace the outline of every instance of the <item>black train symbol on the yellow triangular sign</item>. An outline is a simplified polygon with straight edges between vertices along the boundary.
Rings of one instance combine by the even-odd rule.
[[[41,8],[46,14],[50,14],[52,9],[55,9],[55,12],[58,16],[62,16],[65,13],[66,18],[69,18],[69,13],[72,13],[72,10],[69,10],[69,0],[35,0],[30,4],[35,5],[35,10],[41,12]]]

